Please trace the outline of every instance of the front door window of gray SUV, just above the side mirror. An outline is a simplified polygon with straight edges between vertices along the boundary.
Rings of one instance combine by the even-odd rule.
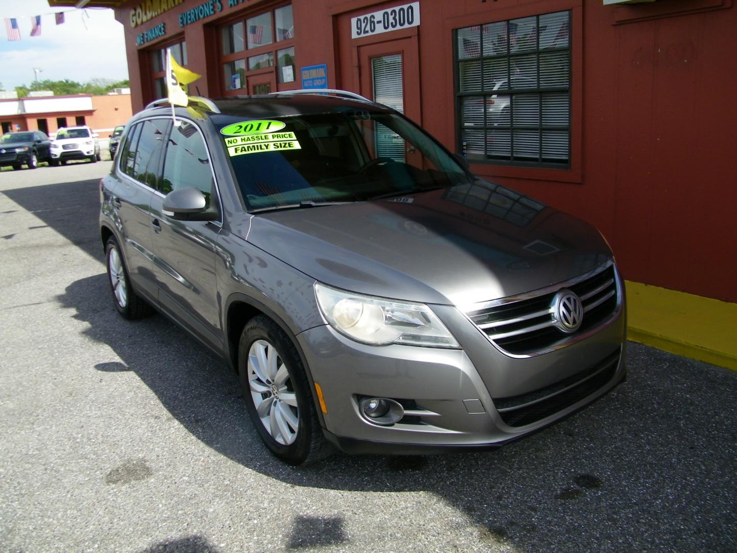
[[[213,184],[205,141],[195,125],[182,121],[172,128],[159,190],[168,194],[178,188],[195,187],[205,195],[209,206]]]

